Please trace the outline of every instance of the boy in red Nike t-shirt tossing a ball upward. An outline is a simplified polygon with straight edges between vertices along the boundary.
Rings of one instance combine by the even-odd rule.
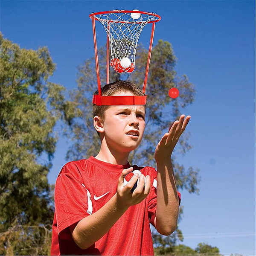
[[[102,88],[102,96],[117,95],[145,96],[127,81]],[[95,157],[67,163],[58,175],[51,255],[154,255],[149,223],[166,236],[177,226],[180,196],[171,155],[190,116],[180,116],[158,143],[157,171],[128,162],[143,138],[145,105],[93,105],[93,116],[101,148]],[[131,192],[138,176],[126,186],[123,180],[134,170],[142,175]]]

